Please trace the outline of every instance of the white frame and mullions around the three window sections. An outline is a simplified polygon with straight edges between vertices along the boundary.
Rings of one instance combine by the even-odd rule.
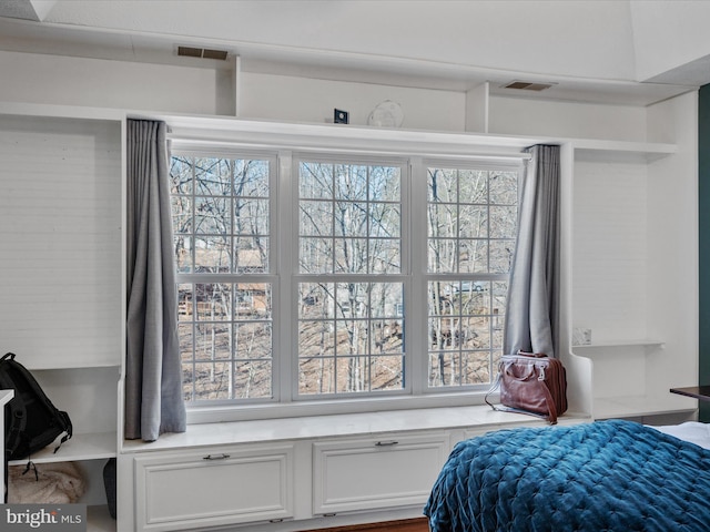
[[[283,124],[282,124],[283,125]],[[264,127],[264,130],[271,130],[272,125],[267,124],[262,126],[256,124],[255,129]],[[322,126],[304,126],[308,132],[317,132]],[[250,125],[246,124],[246,129]],[[292,124],[286,124],[286,130],[292,129]],[[406,365],[406,392],[400,395],[386,395],[385,397],[363,397],[359,393],[353,395],[349,398],[338,399],[295,399],[295,390],[297,383],[297,374],[295,372],[295,356],[293,352],[293,339],[296,338],[296,299],[294,294],[297,293],[297,284],[292,278],[293,273],[297,272],[296,254],[293,253],[292,246],[296,245],[297,241],[294,238],[294,229],[297,219],[297,194],[294,194],[294,187],[296,186],[296,175],[294,175],[294,156],[305,155],[306,158],[323,158],[324,156],[332,158],[345,158],[345,160],[404,160],[407,162],[408,175],[410,180],[427,178],[426,168],[427,165],[443,164],[444,166],[457,166],[464,167],[474,165],[479,167],[486,162],[493,163],[495,167],[499,167],[500,164],[505,166],[515,166],[520,170],[519,175],[523,175],[521,167],[523,162],[529,158],[526,154],[521,153],[521,150],[527,145],[527,142],[521,140],[503,140],[500,144],[491,141],[487,137],[459,135],[459,134],[438,134],[438,133],[412,133],[403,132],[404,139],[398,139],[395,133],[398,132],[378,132],[367,131],[363,134],[362,131],[355,131],[353,135],[359,140],[355,147],[349,146],[348,137],[351,133],[347,130],[343,130],[345,133],[342,139],[339,129],[335,130],[335,137],[332,139],[329,134],[333,130],[327,127],[327,134],[311,136],[310,134],[298,134],[298,126],[293,126],[294,136],[278,135],[273,139],[273,144],[270,141],[260,141],[258,143],[246,142],[242,136],[243,132],[237,131],[235,134],[240,136],[239,141],[220,141],[214,136],[209,135],[210,140],[205,141],[181,137],[180,133],[173,135],[173,150],[175,152],[199,151],[201,154],[210,153],[217,156],[244,158],[247,154],[254,154],[255,156],[275,156],[276,165],[276,185],[272,188],[276,197],[272,197],[273,211],[273,228],[272,228],[272,252],[276,246],[283,252],[276,257],[272,256],[272,274],[276,276],[274,285],[274,375],[273,375],[273,391],[274,400],[270,402],[254,402],[248,405],[234,405],[230,402],[227,405],[205,405],[199,407],[189,407],[189,422],[202,423],[214,421],[229,421],[229,420],[244,420],[244,419],[271,419],[281,417],[297,417],[306,415],[328,415],[328,413],[346,413],[346,412],[367,412],[377,410],[397,410],[397,409],[412,409],[412,408],[430,408],[430,407],[449,407],[449,406],[466,406],[483,403],[484,392],[470,391],[470,390],[455,390],[455,389],[437,389],[428,388],[427,386],[427,357],[420,357],[420,364]],[[180,130],[180,127],[179,127]],[[278,130],[278,127],[276,129]],[[219,132],[220,135],[224,134],[223,131]],[[372,134],[372,139],[367,137]],[[362,135],[362,136],[361,136]],[[410,144],[407,136],[414,135],[420,137],[420,142],[414,142]],[[267,136],[267,135],[265,135]],[[378,137],[383,137],[384,141],[379,142]],[[219,137],[219,135],[217,135]],[[365,140],[365,137],[367,137]],[[427,143],[427,139],[432,137],[435,142]],[[185,143],[181,142],[183,139],[189,139]],[[476,141],[484,140],[481,144],[476,144]],[[442,143],[452,141],[453,144],[446,145],[446,150],[439,151]],[[303,146],[308,145],[308,149]],[[200,147],[195,147],[200,146]],[[425,147],[423,147],[425,146]],[[217,152],[220,152],[217,154]],[[335,154],[335,155],[334,155]],[[410,205],[412,211],[417,208],[426,208],[426,186],[412,187],[408,191],[409,202],[404,196],[403,201],[406,205]],[[295,198],[295,200],[294,200]],[[420,206],[420,207],[419,207]],[[404,207],[409,208],[409,207]],[[403,218],[404,219],[404,218]],[[285,221],[292,223],[292,227]],[[283,228],[286,227],[284,231]],[[408,335],[406,337],[407,352],[417,350],[418,352],[426,351],[426,335],[413,335],[413,330],[416,329],[416,323],[413,324],[412,310],[415,307],[423,308],[426,304],[426,272],[419,269],[413,269],[410,260],[416,260],[417,254],[426,256],[426,236],[417,238],[416,241],[409,238],[409,231],[414,234],[426,235],[426,219],[425,217],[413,216],[409,223],[405,223],[403,227],[403,242],[409,242],[410,248],[403,260],[406,260],[408,265],[409,280],[405,282],[407,285],[405,289],[408,290],[409,297],[405,299],[405,313],[409,316],[409,325],[407,326]],[[424,267],[426,266],[426,259],[420,260]],[[403,270],[404,273],[405,270]],[[419,287],[416,289],[415,287]],[[290,304],[286,304],[291,299]],[[419,319],[419,318],[418,318]],[[420,315],[422,329],[426,330],[427,317],[426,313]],[[287,356],[281,357],[282,361],[277,362],[276,358],[280,352],[287,352]],[[216,402],[216,401],[215,401]]]

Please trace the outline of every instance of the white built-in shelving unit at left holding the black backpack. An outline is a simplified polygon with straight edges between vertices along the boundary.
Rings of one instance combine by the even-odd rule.
[[[32,461],[77,462],[89,530],[115,531],[103,469],[119,449],[122,119],[12,108],[0,114],[1,348],[73,424],[71,440]]]

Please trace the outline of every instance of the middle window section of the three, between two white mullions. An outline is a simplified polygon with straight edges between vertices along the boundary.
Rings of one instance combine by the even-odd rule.
[[[402,174],[298,162],[298,395],[404,388]]]

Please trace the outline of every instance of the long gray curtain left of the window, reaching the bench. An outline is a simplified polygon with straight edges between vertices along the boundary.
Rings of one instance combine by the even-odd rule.
[[[163,122],[128,121],[125,438],[184,432]]]

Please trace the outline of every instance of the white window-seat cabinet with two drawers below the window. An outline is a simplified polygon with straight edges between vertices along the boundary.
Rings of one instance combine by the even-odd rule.
[[[402,426],[410,429],[393,430]],[[193,426],[126,443],[120,469],[133,507],[122,526],[261,532],[417,518],[458,441],[532,426],[545,422],[487,406]]]

